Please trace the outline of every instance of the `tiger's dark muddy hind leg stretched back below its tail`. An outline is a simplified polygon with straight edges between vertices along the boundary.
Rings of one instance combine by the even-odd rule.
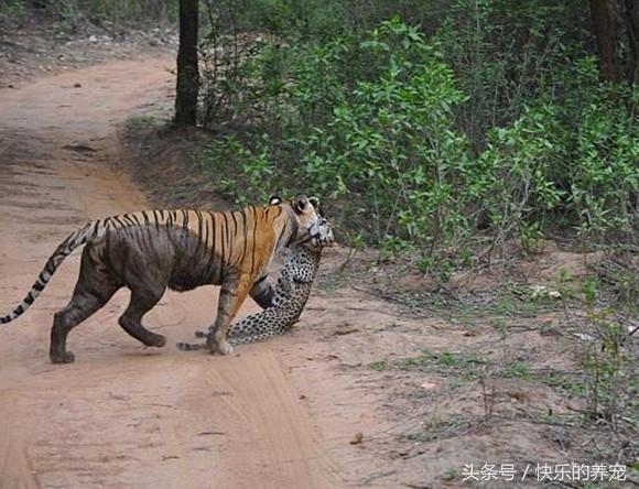
[[[96,261],[90,246],[83,250],[78,281],[69,303],[58,311],[51,328],[48,356],[53,363],[71,363],[74,355],[66,350],[69,332],[102,307],[120,289],[120,284]]]

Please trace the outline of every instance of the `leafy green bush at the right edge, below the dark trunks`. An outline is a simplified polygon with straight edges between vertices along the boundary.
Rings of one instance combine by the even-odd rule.
[[[546,229],[561,215],[591,244],[636,246],[639,90],[599,83],[593,57],[562,78],[561,98],[540,96],[488,138],[479,160],[492,222],[508,235],[522,224]]]

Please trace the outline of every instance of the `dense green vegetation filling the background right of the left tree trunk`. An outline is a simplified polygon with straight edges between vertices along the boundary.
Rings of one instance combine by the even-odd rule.
[[[582,1],[240,3],[202,15],[201,122],[235,131],[202,164],[232,162],[229,195],[318,193],[355,243],[422,270],[557,229],[638,244],[626,24],[613,82]]]

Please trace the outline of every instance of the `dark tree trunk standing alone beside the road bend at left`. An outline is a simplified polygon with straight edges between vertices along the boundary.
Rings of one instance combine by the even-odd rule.
[[[195,126],[197,121],[197,7],[198,0],[180,0],[180,47],[177,50],[177,86],[175,123]]]

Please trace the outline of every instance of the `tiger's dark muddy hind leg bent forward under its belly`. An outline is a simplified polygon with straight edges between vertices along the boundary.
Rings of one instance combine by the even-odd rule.
[[[119,319],[122,329],[147,346],[161,348],[166,345],[164,336],[151,333],[142,326],[142,317],[160,302],[164,289],[164,286],[148,287],[142,285],[132,287],[129,306]]]

